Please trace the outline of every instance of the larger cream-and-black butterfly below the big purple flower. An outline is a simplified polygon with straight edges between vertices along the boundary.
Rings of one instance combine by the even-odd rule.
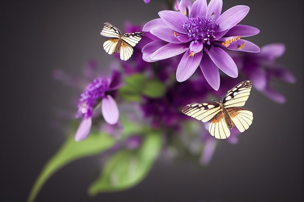
[[[182,112],[202,122],[208,122],[209,133],[217,139],[226,139],[234,126],[244,132],[253,122],[253,112],[243,108],[252,88],[250,80],[242,81],[226,93],[220,102],[192,103]]]

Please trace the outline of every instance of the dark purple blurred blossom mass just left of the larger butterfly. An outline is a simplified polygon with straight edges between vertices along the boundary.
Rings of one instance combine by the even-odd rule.
[[[205,79],[191,79],[184,83],[175,82],[168,87],[166,94],[161,98],[144,97],[141,109],[146,118],[152,118],[152,126],[173,126],[178,129],[181,121],[188,118],[181,113],[181,106],[197,100],[206,99],[206,95],[213,90]]]

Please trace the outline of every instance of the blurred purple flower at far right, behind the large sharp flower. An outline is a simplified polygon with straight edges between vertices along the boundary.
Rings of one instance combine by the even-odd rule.
[[[275,60],[285,52],[284,44],[269,44],[261,47],[259,53],[231,53],[237,66],[244,72],[246,79],[253,82],[253,87],[277,103],[284,103],[286,98],[271,88],[271,78],[294,83],[296,78],[286,67]]]

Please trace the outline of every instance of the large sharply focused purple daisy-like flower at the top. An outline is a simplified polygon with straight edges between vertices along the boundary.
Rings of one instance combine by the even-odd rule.
[[[182,4],[182,5],[181,5]],[[184,7],[187,6],[187,9]],[[176,70],[179,82],[191,77],[201,67],[209,85],[220,88],[220,72],[236,78],[236,63],[224,49],[259,52],[260,48],[241,37],[253,36],[258,29],[236,25],[249,12],[249,7],[237,5],[221,14],[222,0],[196,0],[193,5],[180,2],[183,12],[160,11],[160,18],[148,22],[143,31],[157,39],[142,48],[143,60],[154,62],[184,53]],[[188,12],[188,16],[184,15]]]

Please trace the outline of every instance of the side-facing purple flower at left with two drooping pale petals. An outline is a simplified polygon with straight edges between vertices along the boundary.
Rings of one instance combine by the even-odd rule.
[[[93,111],[100,104],[104,120],[108,124],[116,124],[118,122],[119,112],[113,97],[120,86],[120,73],[117,71],[113,71],[111,78],[98,77],[87,85],[84,93],[81,94],[78,104],[76,118],[83,116],[83,120],[77,129],[76,141],[84,140],[89,134]]]

